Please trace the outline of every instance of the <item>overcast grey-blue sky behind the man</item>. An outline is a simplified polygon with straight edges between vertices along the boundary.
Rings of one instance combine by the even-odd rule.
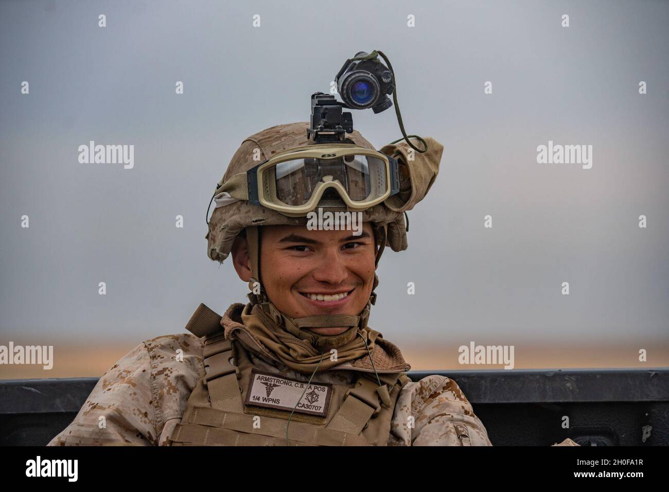
[[[3,1],[3,341],[139,342],[244,302],[206,256],[215,184],[246,137],[308,120],[310,94],[379,49],[407,132],[445,150],[370,325],[398,343],[666,342],[668,25],[666,1]],[[400,136],[393,110],[354,123],[377,148]],[[134,168],[80,164],[91,140],[134,145]],[[537,163],[549,140],[592,145],[592,168]]]

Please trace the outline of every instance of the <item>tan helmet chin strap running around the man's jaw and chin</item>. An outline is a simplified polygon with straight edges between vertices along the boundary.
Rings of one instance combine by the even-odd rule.
[[[376,253],[374,265],[379,264],[381,254],[385,248],[387,226],[377,226],[373,224],[374,237],[376,244],[379,245],[379,250]],[[369,321],[369,312],[371,305],[376,303],[376,293],[374,289],[379,285],[379,276],[374,274],[374,284],[372,286],[372,293],[369,296],[367,305],[357,316],[354,315],[313,315],[304,316],[301,318],[293,318],[285,313],[282,313],[267,297],[265,289],[260,283],[260,227],[251,226],[246,228],[246,241],[248,243],[249,258],[251,261],[251,279],[249,281],[249,289],[251,293],[248,294],[249,301],[255,307],[258,305],[258,314],[268,323],[281,327],[288,331],[291,335],[299,339],[308,341],[315,349],[326,351],[335,347],[341,347],[355,339],[358,329],[367,327]],[[256,294],[256,292],[260,292]],[[328,328],[328,327],[348,327],[344,333],[339,335],[318,335],[310,331],[309,328]]]

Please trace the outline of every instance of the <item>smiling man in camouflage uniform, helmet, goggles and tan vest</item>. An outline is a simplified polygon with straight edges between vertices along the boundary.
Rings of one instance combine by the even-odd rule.
[[[217,186],[209,258],[231,254],[250,302],[222,317],[200,305],[192,335],[135,347],[50,444],[490,445],[456,382],[411,382],[367,324],[381,254],[407,248],[404,212],[432,186],[442,145],[425,139],[414,160],[406,141],[378,152],[353,131],[319,146],[307,128],[252,135]],[[316,207],[359,213],[361,234],[308,228]]]

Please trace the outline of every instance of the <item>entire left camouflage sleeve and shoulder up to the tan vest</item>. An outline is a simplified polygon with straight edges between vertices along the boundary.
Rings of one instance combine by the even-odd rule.
[[[147,340],[98,381],[72,424],[49,446],[169,444],[197,380],[202,341],[188,333]]]

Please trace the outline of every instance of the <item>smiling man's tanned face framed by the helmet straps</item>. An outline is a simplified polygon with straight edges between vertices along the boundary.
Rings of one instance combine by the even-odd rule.
[[[264,226],[260,234],[260,276],[270,301],[294,318],[343,314],[357,316],[374,284],[375,243],[369,222],[353,236],[341,230],[306,226]],[[312,328],[339,335],[347,327]]]

